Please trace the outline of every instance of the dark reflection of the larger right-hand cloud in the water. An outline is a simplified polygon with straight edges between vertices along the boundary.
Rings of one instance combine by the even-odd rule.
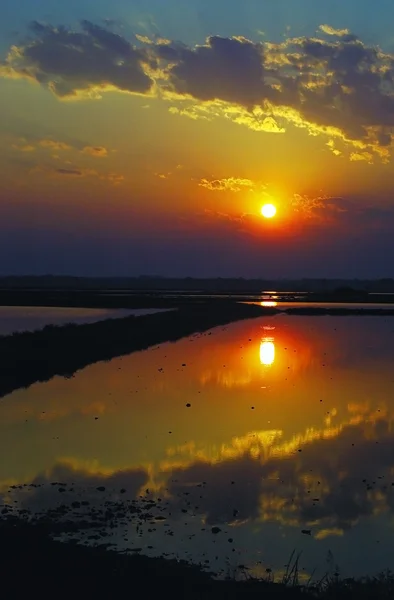
[[[172,471],[169,490],[176,506],[183,498],[208,523],[253,520],[262,512],[268,520],[313,524],[316,531],[345,530],[375,514],[382,497],[380,506],[394,509],[394,440],[385,419],[346,426],[300,449],[263,459],[261,448],[259,457],[245,451],[215,464],[197,462]]]

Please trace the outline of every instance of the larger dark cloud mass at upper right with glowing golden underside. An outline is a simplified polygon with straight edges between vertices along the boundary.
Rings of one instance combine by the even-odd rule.
[[[204,46],[158,45],[156,52],[173,63],[168,78],[177,94],[248,111],[260,106],[265,116],[325,130],[361,148],[377,146],[378,152],[391,143],[394,58],[355,36],[276,45],[212,36]]]

